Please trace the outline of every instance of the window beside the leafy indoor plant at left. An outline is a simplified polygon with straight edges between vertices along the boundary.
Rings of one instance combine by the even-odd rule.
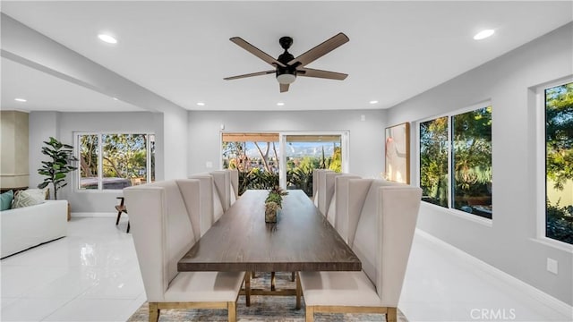
[[[121,190],[155,181],[155,135],[79,133],[80,190]]]

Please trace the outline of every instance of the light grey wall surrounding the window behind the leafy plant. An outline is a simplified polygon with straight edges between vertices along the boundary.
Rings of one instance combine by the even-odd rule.
[[[56,137],[64,143],[73,145],[74,131],[141,131],[155,132],[159,138],[162,133],[157,129],[158,117],[150,112],[133,113],[58,113],[58,112],[31,112],[30,113],[30,187],[36,187],[43,177],[37,174],[40,161],[44,160],[41,154],[42,141],[50,136]],[[156,143],[160,146],[160,142]],[[158,151],[156,151],[158,152]],[[159,153],[158,153],[159,154]],[[163,163],[156,159],[156,169],[162,169]],[[156,178],[162,180],[158,176]],[[117,204],[115,199],[121,196],[121,191],[79,191],[77,182],[78,171],[68,175],[68,185],[58,191],[58,199],[67,199],[72,205],[72,212],[113,213]],[[51,187],[50,187],[51,190]]]

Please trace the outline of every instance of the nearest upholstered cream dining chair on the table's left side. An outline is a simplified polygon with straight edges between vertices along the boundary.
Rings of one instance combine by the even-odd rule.
[[[236,320],[244,272],[178,272],[177,262],[199,239],[198,180],[182,179],[124,189],[132,218],[133,243],[150,307],[150,322],[161,309],[227,309]]]

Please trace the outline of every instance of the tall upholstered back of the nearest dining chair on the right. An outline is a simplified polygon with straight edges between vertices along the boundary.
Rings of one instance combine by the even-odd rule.
[[[372,179],[351,180],[349,186],[350,195],[356,194],[354,202],[363,199],[352,250],[360,258],[364,273],[376,285],[381,305],[397,307],[422,190]],[[367,192],[364,194],[364,191]]]

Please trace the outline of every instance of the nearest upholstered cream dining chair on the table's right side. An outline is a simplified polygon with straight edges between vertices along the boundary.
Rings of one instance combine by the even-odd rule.
[[[315,312],[381,313],[397,321],[398,300],[422,198],[418,187],[372,179],[348,181],[348,244],[357,272],[299,272],[306,322]]]

